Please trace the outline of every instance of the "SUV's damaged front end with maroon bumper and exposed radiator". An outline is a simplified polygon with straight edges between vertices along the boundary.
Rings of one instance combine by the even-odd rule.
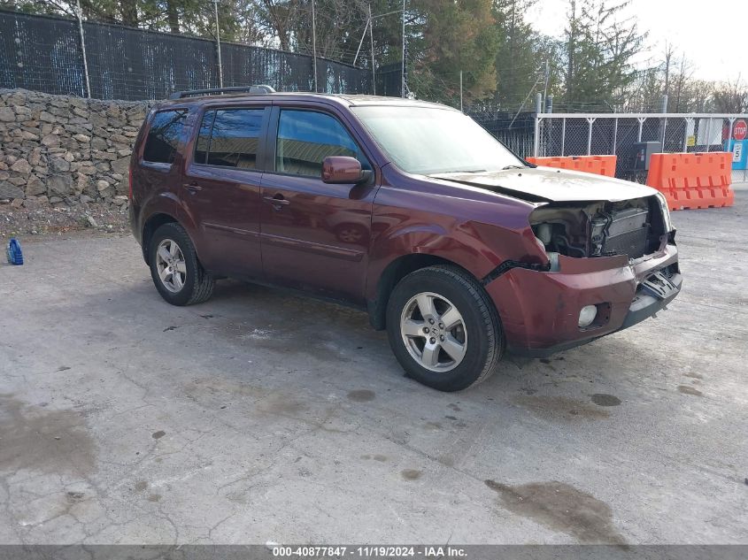
[[[529,215],[545,265],[486,284],[515,353],[545,357],[652,317],[682,284],[660,195],[539,203]]]

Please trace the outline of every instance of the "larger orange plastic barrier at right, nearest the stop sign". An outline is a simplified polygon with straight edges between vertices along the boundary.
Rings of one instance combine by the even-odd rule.
[[[647,185],[665,195],[670,210],[721,208],[735,203],[732,154],[652,154]]]

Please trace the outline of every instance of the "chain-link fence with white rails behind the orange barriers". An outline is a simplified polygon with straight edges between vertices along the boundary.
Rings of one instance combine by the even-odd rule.
[[[646,154],[733,152],[733,182],[748,181],[748,115],[540,113],[532,151],[541,157],[615,154],[616,176],[644,182]]]

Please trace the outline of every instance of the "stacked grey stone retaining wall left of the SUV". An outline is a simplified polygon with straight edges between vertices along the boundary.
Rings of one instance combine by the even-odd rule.
[[[0,89],[0,203],[127,205],[127,167],[149,106]]]

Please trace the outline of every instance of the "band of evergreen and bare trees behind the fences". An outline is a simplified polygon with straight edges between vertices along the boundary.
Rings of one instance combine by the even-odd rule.
[[[213,0],[80,1],[89,21],[216,36]],[[537,91],[553,94],[562,111],[660,111],[663,94],[668,111],[748,110],[743,81],[694,80],[692,65],[672,42],[659,60],[635,67],[645,37],[625,17],[628,0],[567,0],[561,41],[538,34],[526,21],[536,2],[407,0],[409,92],[456,106],[461,71],[465,103],[491,112],[518,111],[526,100],[531,109]],[[389,78],[399,85],[402,0],[314,3],[319,57],[351,64],[359,51],[357,65],[371,68],[374,58],[377,75],[387,75],[389,67]],[[76,0],[0,0],[0,7],[68,17],[77,9]],[[373,34],[366,31],[369,7]],[[312,54],[312,0],[218,0],[218,19],[221,41]]]

